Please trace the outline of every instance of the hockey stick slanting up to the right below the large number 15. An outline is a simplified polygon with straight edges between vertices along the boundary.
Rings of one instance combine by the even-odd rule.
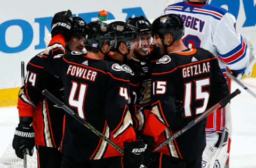
[[[182,133],[186,132],[187,130],[189,130],[191,127],[193,127],[195,124],[197,124],[198,122],[202,121],[203,119],[205,119],[205,117],[207,117],[209,114],[211,114],[211,112],[213,112],[214,110],[216,110],[217,108],[226,105],[231,98],[235,97],[236,95],[240,94],[241,91],[239,89],[236,89],[233,93],[231,93],[230,95],[222,98],[220,100],[220,102],[218,102],[217,104],[215,104],[214,106],[212,106],[211,108],[209,108],[208,110],[206,110],[202,115],[196,117],[195,120],[190,121],[185,127],[183,127],[182,129],[180,129],[178,132],[175,132],[171,137],[169,137],[168,139],[166,139],[164,142],[162,142],[161,144],[159,144],[157,147],[155,147],[152,152],[157,152],[157,150],[161,149],[162,147],[164,147],[165,145],[169,144],[172,140],[174,140],[175,138],[179,137],[180,135],[182,135]]]

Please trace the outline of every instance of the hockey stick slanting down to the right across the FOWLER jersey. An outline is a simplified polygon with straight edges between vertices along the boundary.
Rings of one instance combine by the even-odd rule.
[[[113,148],[115,148],[119,153],[124,154],[124,150],[117,146],[113,141],[108,139],[106,136],[104,136],[100,131],[95,129],[90,123],[83,120],[81,117],[79,117],[73,110],[71,110],[67,105],[65,105],[63,102],[61,102],[58,98],[53,96],[48,90],[44,89],[42,91],[42,95],[52,100],[53,103],[57,104],[60,108],[65,110],[69,115],[71,115],[75,120],[77,120],[79,123],[83,124],[86,128],[91,130],[95,135],[105,140],[109,145],[111,145]]]

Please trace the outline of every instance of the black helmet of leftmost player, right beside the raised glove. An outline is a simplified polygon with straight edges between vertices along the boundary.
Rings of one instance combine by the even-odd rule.
[[[86,30],[86,22],[80,17],[73,17],[71,34],[72,35],[84,35]]]

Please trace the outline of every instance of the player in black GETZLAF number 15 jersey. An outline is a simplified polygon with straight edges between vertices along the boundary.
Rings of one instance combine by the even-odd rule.
[[[166,54],[152,72],[152,110],[145,123],[145,134],[154,137],[155,147],[227,96],[228,86],[216,57],[183,44],[184,26],[178,15],[157,18],[153,33],[154,43]],[[175,105],[181,103],[185,111]],[[206,120],[199,122],[159,149],[149,167],[201,167],[205,124]]]

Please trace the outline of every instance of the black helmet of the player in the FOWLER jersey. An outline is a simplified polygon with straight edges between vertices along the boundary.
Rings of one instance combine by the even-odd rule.
[[[85,46],[101,50],[105,42],[110,44],[112,40],[114,40],[114,35],[107,23],[92,21],[88,24],[84,40]]]

